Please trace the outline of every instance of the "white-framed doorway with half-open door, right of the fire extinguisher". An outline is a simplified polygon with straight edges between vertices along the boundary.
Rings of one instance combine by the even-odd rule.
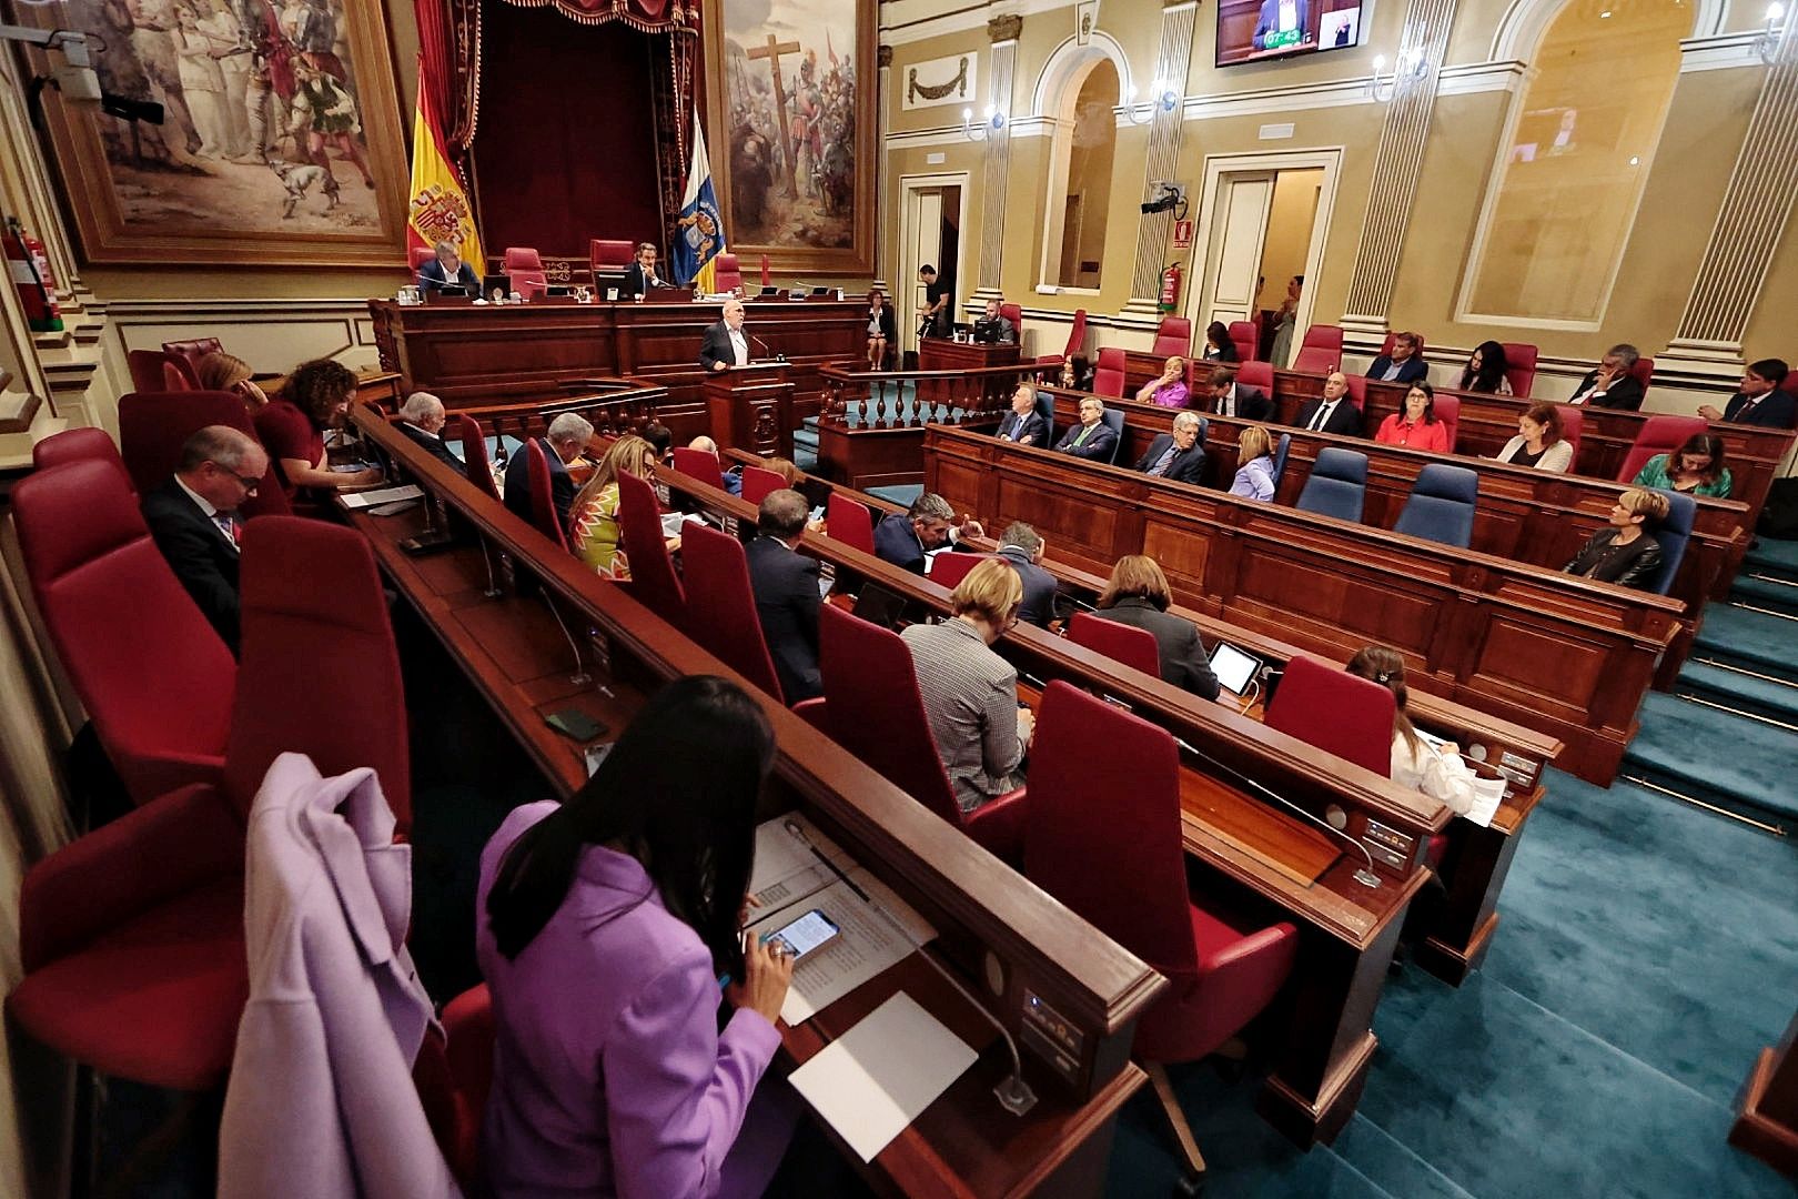
[[[1305,279],[1291,343],[1304,338],[1340,165],[1340,149],[1206,158],[1196,221],[1203,243],[1194,248],[1203,273],[1187,311],[1194,342],[1203,342],[1203,329],[1214,320],[1224,325],[1248,320],[1257,327],[1259,352],[1284,365],[1273,352],[1273,331],[1262,331],[1262,315],[1280,307],[1295,277]],[[1287,351],[1284,340],[1280,349]]]

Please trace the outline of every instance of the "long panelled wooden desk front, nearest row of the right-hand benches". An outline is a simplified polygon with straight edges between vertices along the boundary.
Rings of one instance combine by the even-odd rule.
[[[1679,629],[1681,606],[1660,595],[964,430],[926,431],[924,476],[957,511],[1030,521],[1086,570],[1147,554],[1181,602],[1331,660],[1392,645],[1413,692],[1552,735],[1598,784]]]

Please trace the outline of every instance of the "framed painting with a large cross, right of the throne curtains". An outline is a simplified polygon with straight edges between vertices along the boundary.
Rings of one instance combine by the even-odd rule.
[[[705,0],[707,149],[744,271],[874,273],[874,0]]]

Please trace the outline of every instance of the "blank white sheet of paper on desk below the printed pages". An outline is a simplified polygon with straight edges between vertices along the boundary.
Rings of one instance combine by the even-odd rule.
[[[795,1070],[791,1082],[863,1161],[874,1161],[978,1057],[901,990]]]

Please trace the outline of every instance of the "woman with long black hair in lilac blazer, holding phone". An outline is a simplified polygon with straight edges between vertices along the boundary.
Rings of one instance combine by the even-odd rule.
[[[520,807],[487,843],[476,951],[498,1023],[482,1125],[494,1194],[768,1183],[784,1138],[739,1131],[780,1048],[793,965],[744,951],[739,928],[771,764],[753,699],[676,679],[568,804]],[[719,1032],[725,973],[744,981]]]

